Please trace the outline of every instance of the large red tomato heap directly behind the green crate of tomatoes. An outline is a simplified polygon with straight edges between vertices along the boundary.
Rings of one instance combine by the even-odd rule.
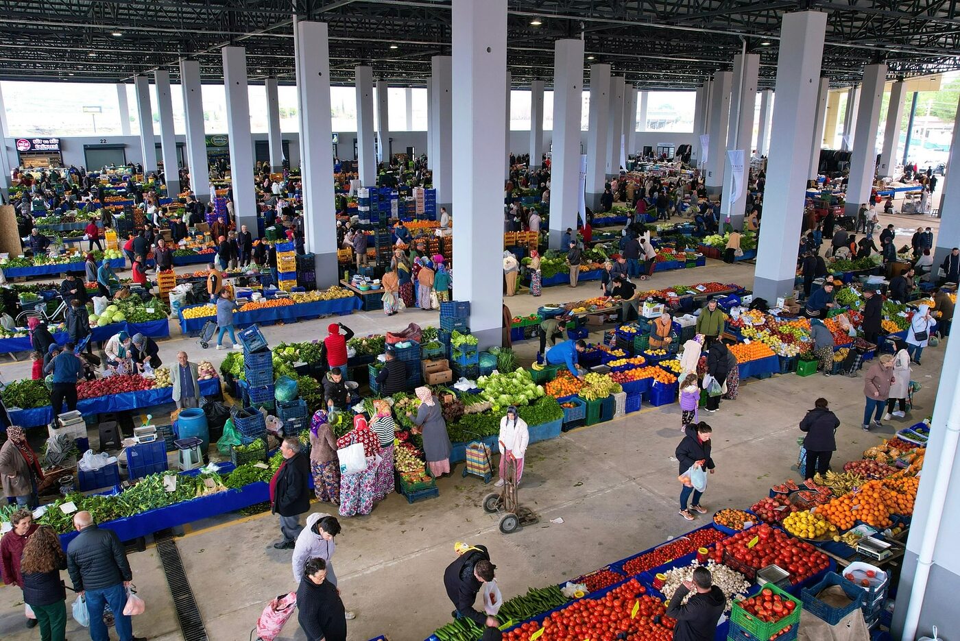
[[[756,537],[756,544],[750,546]],[[732,560],[735,570],[743,571],[764,568],[776,563],[790,572],[793,584],[804,581],[829,567],[829,558],[805,541],[800,541],[766,523],[733,534],[730,538],[716,544],[710,558],[718,563],[724,561],[724,555]],[[729,562],[727,564],[730,564]],[[751,576],[748,574],[748,577]]]

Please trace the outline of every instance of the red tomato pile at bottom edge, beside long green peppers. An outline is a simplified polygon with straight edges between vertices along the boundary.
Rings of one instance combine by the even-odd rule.
[[[600,599],[582,599],[554,612],[543,620],[542,641],[616,638],[643,641],[670,641],[675,621],[665,615],[666,607],[647,594],[636,579],[611,590]],[[632,616],[636,605],[636,617]],[[505,632],[505,641],[529,641],[540,625],[528,622]],[[622,636],[620,636],[622,635]]]

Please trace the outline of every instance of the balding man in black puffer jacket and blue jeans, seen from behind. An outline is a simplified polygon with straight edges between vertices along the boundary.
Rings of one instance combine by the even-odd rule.
[[[127,553],[120,537],[112,530],[101,530],[90,512],[73,515],[73,527],[79,532],[66,547],[66,569],[73,589],[86,598],[90,613],[90,638],[108,639],[104,625],[104,605],[110,605],[120,641],[141,641],[133,636],[130,616],[123,613],[127,590],[133,580]]]

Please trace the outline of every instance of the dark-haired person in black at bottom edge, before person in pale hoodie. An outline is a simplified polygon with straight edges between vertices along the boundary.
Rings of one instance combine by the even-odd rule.
[[[297,623],[307,641],[347,641],[345,610],[340,590],[326,579],[324,559],[304,563],[297,588]]]

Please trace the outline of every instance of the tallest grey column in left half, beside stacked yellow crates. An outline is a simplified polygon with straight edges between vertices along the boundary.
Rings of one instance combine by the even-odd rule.
[[[325,22],[296,24],[294,49],[300,105],[300,170],[303,177],[303,245],[316,261],[317,287],[338,282],[333,200],[333,131],[330,121],[330,55]],[[255,229],[255,227],[254,227]]]

